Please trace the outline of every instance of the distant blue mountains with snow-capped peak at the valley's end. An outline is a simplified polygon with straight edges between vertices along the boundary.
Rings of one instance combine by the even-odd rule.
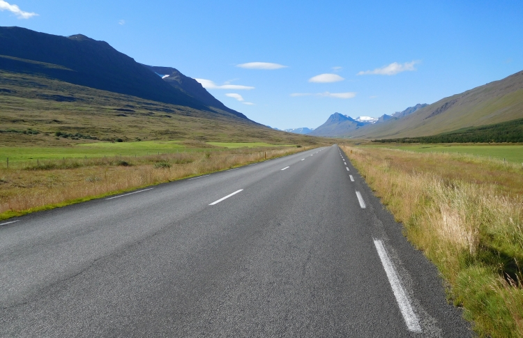
[[[351,116],[348,115],[334,113],[329,116],[324,124],[316,128],[314,132],[310,132],[309,135],[325,137],[347,137],[356,130],[365,130],[365,128],[370,127],[371,125],[377,125],[384,123],[385,121],[397,119],[396,116],[408,116],[409,114],[412,114],[425,106],[427,106],[425,103],[423,105],[418,104],[414,107],[408,107],[403,112],[395,112],[392,115],[384,114],[379,118],[370,116],[359,116],[357,118],[351,118]]]

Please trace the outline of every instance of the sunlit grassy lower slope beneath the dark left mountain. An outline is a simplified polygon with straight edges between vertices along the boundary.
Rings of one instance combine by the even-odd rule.
[[[55,99],[75,100],[57,102]],[[115,109],[130,109],[121,112]],[[124,114],[126,116],[117,116]],[[204,112],[77,86],[37,75],[0,71],[0,146],[71,146],[89,139],[56,139],[54,132],[100,140],[123,139],[316,144],[326,141],[265,128],[227,112]],[[46,135],[48,134],[48,135]]]

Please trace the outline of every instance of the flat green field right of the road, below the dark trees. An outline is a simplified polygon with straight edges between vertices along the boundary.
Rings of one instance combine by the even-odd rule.
[[[462,153],[468,155],[479,155],[485,158],[506,159],[508,162],[523,163],[523,146],[454,146],[441,144],[423,144],[416,146],[379,146],[381,148],[402,149],[405,151],[417,151],[420,153]]]

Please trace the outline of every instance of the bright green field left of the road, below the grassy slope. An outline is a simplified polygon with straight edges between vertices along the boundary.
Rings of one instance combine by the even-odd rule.
[[[53,160],[71,158],[102,158],[104,156],[143,156],[158,153],[183,153],[196,151],[220,151],[225,148],[275,147],[280,145],[262,142],[221,143],[209,142],[213,148],[195,148],[182,141],[139,141],[139,142],[96,142],[65,147],[0,147],[0,165],[28,162],[31,160]],[[198,146],[199,144],[195,144]],[[221,148],[218,148],[221,147]]]

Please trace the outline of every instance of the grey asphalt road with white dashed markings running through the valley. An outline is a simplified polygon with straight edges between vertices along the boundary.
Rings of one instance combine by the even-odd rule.
[[[1,337],[471,337],[338,146],[0,222]]]

